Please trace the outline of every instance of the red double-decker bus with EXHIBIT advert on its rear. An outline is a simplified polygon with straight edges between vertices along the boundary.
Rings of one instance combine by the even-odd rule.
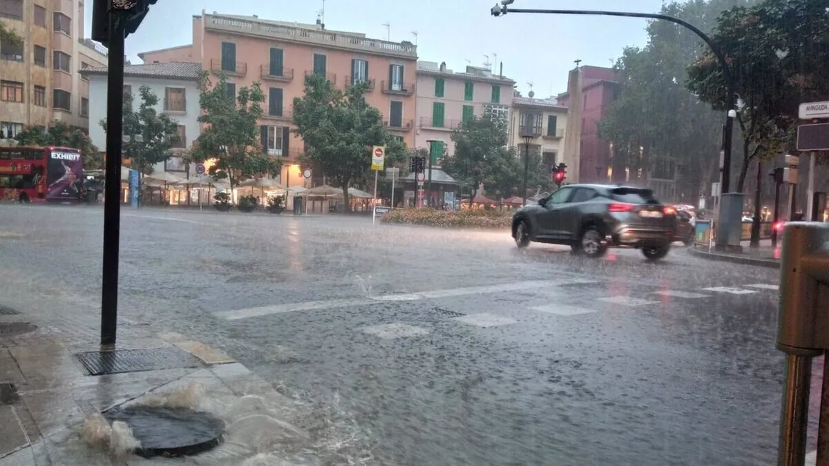
[[[83,174],[75,148],[0,147],[2,201],[79,201]]]

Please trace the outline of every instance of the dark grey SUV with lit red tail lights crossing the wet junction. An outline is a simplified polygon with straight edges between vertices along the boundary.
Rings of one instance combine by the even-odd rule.
[[[662,259],[675,235],[676,211],[640,187],[572,184],[512,216],[512,237],[519,248],[532,241],[570,245],[589,257],[618,247],[640,249],[648,260]]]

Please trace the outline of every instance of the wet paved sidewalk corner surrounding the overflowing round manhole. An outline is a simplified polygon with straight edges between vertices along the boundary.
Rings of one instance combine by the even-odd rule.
[[[133,454],[128,464],[300,464],[269,453],[297,454],[308,446],[308,434],[284,421],[297,417],[296,403],[224,352],[177,333],[125,337],[117,348],[124,356],[115,367],[119,373],[90,376],[76,354],[98,347],[56,341],[46,335],[47,325],[15,334],[32,329],[15,317],[20,316],[0,321],[0,466],[126,464],[85,444],[87,416],[115,406],[149,405],[170,393],[201,393],[188,398],[196,401],[188,406],[223,420],[224,441],[182,459]],[[155,359],[142,361],[142,354]],[[138,371],[128,371],[130,364]],[[317,461],[303,458],[301,464]]]

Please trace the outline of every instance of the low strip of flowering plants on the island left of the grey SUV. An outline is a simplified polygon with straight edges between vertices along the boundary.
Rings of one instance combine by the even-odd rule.
[[[444,228],[507,229],[511,212],[499,211],[438,211],[435,209],[395,209],[382,217],[384,223],[399,225],[439,226]]]

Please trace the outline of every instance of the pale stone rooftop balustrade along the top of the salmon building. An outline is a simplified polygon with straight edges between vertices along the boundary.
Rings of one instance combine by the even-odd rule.
[[[369,39],[361,34],[343,34],[340,32],[320,31],[308,27],[298,27],[257,19],[225,17],[222,15],[204,15],[205,28],[214,32],[230,32],[244,36],[259,36],[275,41],[291,41],[310,46],[338,48],[347,51],[364,51],[367,53],[395,56],[408,60],[417,60],[417,46],[410,42],[390,42]]]

